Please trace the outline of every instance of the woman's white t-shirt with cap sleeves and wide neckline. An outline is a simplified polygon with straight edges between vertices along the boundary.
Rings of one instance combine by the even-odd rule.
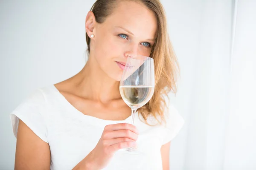
[[[123,154],[119,150],[104,170],[161,170],[160,148],[171,141],[183,126],[184,120],[177,110],[169,107],[166,125],[149,126],[135,115],[139,130],[138,150],[143,156]],[[71,105],[54,85],[33,91],[10,115],[17,137],[21,119],[51,151],[51,170],[71,170],[98,143],[106,125],[131,122],[131,116],[123,121],[99,119],[84,115]],[[151,117],[149,122],[155,120]]]

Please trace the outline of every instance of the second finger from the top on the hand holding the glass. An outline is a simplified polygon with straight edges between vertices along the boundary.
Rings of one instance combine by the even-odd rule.
[[[114,131],[106,131],[103,134],[103,139],[113,139],[113,138],[129,138],[132,140],[137,140],[138,135],[131,130],[114,130]]]

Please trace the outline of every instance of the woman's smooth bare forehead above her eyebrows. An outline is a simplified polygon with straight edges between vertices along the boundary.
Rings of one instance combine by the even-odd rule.
[[[141,3],[128,0],[119,2],[104,23],[113,28],[121,26],[131,31],[134,36],[145,38],[154,38],[157,30],[154,12]]]

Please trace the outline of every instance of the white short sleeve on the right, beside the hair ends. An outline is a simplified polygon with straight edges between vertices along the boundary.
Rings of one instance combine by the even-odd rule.
[[[166,144],[174,139],[184,124],[184,119],[182,116],[180,116],[177,109],[173,105],[166,109],[165,120],[166,124],[163,125],[162,144]]]

